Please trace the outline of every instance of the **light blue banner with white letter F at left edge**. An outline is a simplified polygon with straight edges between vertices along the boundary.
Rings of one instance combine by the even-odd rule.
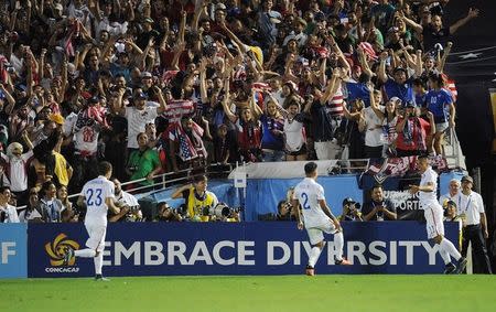
[[[0,224],[0,278],[28,277],[28,226]]]

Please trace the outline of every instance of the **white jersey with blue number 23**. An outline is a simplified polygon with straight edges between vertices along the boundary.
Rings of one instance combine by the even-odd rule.
[[[107,204],[105,198],[114,198],[114,183],[105,176],[98,176],[86,182],[82,195],[86,203],[85,224],[107,225]]]

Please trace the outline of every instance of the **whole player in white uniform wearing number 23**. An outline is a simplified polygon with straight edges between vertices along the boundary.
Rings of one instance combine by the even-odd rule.
[[[99,176],[88,181],[84,186],[77,204],[86,205],[85,227],[89,238],[86,240],[86,249],[65,252],[64,262],[67,265],[73,257],[93,258],[95,261],[95,280],[108,281],[101,276],[104,261],[105,235],[107,233],[107,211],[115,214],[119,208],[115,204],[114,183],[109,181],[112,175],[112,165],[103,161],[98,165]]]

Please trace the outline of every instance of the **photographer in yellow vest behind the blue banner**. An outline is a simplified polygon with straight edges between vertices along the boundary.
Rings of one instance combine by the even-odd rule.
[[[206,190],[207,185],[206,175],[197,175],[193,179],[193,183],[177,189],[172,194],[173,200],[184,198],[191,220],[208,222],[209,217],[204,215],[204,208],[217,206],[217,196]]]

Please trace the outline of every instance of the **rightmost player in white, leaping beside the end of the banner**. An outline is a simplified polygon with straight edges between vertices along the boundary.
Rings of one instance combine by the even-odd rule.
[[[439,254],[446,266],[445,275],[461,273],[466,267],[466,259],[460,255],[456,247],[444,237],[443,208],[438,203],[438,173],[429,165],[427,155],[421,155],[417,160],[422,179],[420,185],[410,185],[410,193],[419,192],[420,208],[427,220],[428,238],[439,245]],[[451,257],[456,260],[456,265],[451,262]]]

